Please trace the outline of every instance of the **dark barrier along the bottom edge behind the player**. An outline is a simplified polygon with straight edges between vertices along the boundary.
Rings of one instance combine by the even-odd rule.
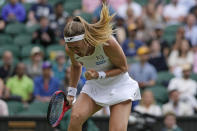
[[[108,131],[109,118],[108,117],[92,117],[91,118],[100,131]],[[183,131],[196,131],[197,116],[193,117],[179,117],[177,119],[178,125]],[[160,131],[163,126],[163,118],[158,118],[154,128]],[[0,117],[0,131],[53,131],[48,125],[46,117],[44,116],[17,116],[17,117]],[[136,131],[135,125],[129,124],[128,131]]]

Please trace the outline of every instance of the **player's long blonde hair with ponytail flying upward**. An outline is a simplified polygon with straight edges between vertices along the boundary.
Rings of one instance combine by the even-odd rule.
[[[115,15],[115,14],[114,14]],[[106,4],[100,14],[100,20],[95,24],[89,24],[80,16],[75,17],[64,28],[64,36],[71,37],[85,34],[84,41],[93,46],[105,43],[113,33],[111,21],[114,15],[110,16]]]

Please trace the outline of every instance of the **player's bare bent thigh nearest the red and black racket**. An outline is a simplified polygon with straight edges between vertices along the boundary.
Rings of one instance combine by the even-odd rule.
[[[101,108],[87,94],[81,93],[72,107],[71,119],[84,122]]]

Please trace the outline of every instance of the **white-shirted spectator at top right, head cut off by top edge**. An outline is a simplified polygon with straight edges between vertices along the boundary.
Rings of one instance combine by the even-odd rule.
[[[187,10],[178,4],[178,0],[171,0],[171,3],[164,6],[163,16],[167,24],[178,24],[184,21]]]

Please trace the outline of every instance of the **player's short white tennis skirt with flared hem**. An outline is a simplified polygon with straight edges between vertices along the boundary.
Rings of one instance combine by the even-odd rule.
[[[141,99],[138,83],[130,78],[128,72],[106,79],[88,80],[81,93],[87,94],[100,106]]]

